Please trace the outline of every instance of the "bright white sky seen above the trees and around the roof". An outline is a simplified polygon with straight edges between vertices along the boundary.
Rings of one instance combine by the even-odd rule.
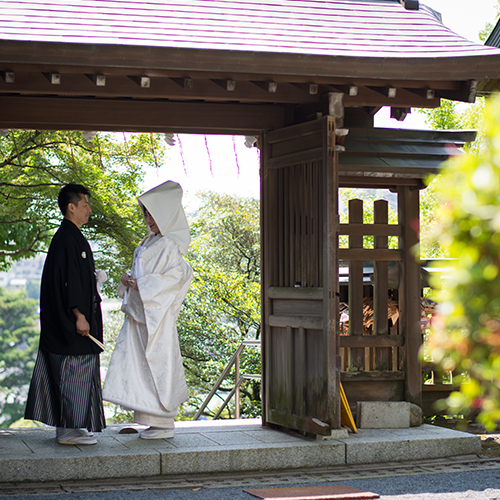
[[[421,0],[441,13],[443,24],[455,33],[482,43],[478,34],[486,23],[493,23],[498,0]],[[426,129],[424,116],[411,113],[403,122],[389,117],[390,108],[375,116],[376,127]],[[200,191],[216,191],[238,196],[259,197],[259,150],[247,148],[243,136],[191,135],[174,136],[176,144],[168,160],[146,177],[144,189],[166,181],[179,182],[184,189],[184,206],[193,212],[199,206]]]

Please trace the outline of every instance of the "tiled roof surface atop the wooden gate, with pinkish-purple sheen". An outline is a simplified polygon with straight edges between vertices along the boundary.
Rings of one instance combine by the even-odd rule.
[[[500,54],[398,0],[4,0],[2,39],[349,57]]]

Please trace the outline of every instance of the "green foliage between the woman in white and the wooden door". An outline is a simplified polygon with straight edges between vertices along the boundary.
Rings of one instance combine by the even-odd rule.
[[[187,256],[194,277],[177,322],[191,389],[185,413],[200,407],[241,342],[260,336],[259,202],[214,193],[201,196]],[[240,369],[259,374],[260,350],[247,347]],[[221,393],[234,387],[234,377],[233,369]],[[260,382],[245,381],[241,401],[243,417],[260,416]]]

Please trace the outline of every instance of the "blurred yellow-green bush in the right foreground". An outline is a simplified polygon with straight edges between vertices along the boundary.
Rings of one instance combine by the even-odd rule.
[[[479,154],[449,160],[442,174],[441,244],[456,261],[437,296],[430,349],[443,370],[465,374],[447,401],[451,413],[476,411],[492,429],[500,422],[499,100],[487,105],[484,132]]]

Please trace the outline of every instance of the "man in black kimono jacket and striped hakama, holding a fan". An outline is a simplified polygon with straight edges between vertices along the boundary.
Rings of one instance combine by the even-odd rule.
[[[40,345],[25,418],[56,427],[60,444],[96,444],[106,427],[99,353],[101,298],[94,258],[80,231],[91,212],[89,190],[68,184],[59,192],[64,219],[45,260],[40,288]]]

